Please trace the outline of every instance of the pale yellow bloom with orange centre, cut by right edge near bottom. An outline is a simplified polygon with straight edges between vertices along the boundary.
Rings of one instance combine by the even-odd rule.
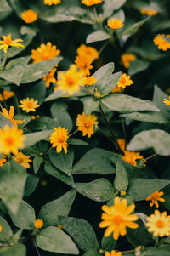
[[[146,220],[148,231],[153,232],[153,236],[170,236],[170,216],[167,216],[167,212],[155,210]]]

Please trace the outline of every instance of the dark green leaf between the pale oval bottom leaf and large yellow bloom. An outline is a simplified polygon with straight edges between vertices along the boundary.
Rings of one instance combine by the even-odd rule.
[[[59,217],[59,223],[66,232],[74,239],[82,251],[99,249],[97,237],[93,227],[84,219],[73,217]]]

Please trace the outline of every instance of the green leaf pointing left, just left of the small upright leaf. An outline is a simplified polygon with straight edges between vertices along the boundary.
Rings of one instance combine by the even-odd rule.
[[[76,183],[77,191],[83,196],[97,201],[104,202],[114,196],[114,187],[107,179],[95,179],[88,183]]]

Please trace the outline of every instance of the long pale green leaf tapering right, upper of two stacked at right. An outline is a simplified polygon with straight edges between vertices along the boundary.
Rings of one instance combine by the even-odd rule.
[[[159,111],[149,100],[141,100],[126,94],[112,94],[101,100],[112,111]]]

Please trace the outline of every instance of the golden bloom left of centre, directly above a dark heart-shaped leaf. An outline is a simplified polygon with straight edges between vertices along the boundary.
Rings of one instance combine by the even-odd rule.
[[[58,128],[54,128],[54,132],[49,137],[49,140],[52,146],[56,147],[57,153],[60,153],[63,148],[66,154],[68,147],[68,143],[66,141],[68,138],[68,130],[59,126]]]

